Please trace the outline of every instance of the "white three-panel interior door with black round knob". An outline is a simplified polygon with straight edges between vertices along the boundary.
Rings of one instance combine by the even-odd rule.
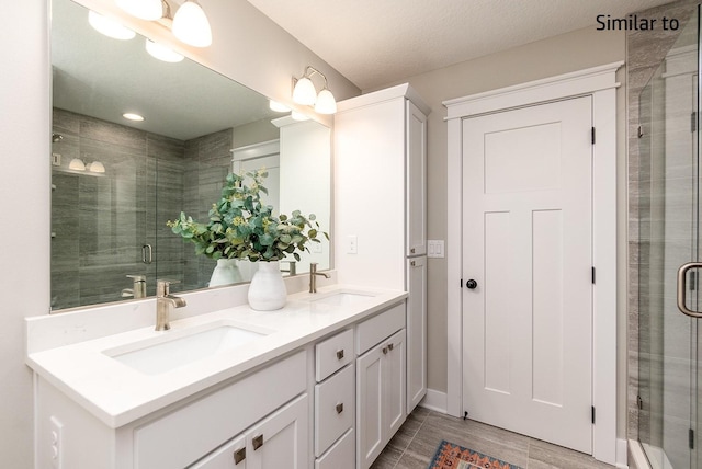
[[[464,410],[585,453],[591,127],[589,96],[463,122]]]

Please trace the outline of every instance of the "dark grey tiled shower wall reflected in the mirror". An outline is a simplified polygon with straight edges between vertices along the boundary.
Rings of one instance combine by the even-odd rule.
[[[181,210],[206,220],[230,168],[233,130],[182,141],[55,108],[53,131],[64,138],[52,147],[60,155],[52,167],[52,308],[124,299],[126,275],[146,275],[148,295],[156,278],[180,281],[173,291],[205,286],[214,262],[195,259],[166,221]],[[69,172],[72,158],[102,162],[104,175]]]

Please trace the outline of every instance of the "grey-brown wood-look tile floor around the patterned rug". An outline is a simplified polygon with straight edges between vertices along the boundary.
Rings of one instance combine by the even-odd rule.
[[[523,469],[611,469],[582,453],[471,420],[417,408],[372,469],[427,469],[442,439]]]

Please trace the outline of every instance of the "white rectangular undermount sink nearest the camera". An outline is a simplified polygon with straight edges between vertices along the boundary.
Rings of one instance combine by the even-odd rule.
[[[200,332],[162,340],[162,336],[117,347],[104,354],[146,375],[159,375],[219,352],[241,346],[265,333],[218,324]]]

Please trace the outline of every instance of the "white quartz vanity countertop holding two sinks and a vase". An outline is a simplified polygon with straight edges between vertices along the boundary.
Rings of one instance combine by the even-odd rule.
[[[348,305],[318,301],[339,293],[369,297]],[[116,428],[371,317],[406,297],[405,291],[332,285],[319,288],[317,294],[290,295],[285,307],[275,311],[254,311],[248,305],[222,309],[172,321],[170,331],[157,332],[151,325],[31,353],[27,365],[106,425]],[[214,323],[265,335],[151,375],[110,356],[135,343],[169,341]]]

